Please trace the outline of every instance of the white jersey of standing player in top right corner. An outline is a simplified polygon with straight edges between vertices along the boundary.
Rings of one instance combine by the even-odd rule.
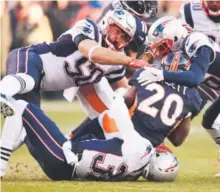
[[[220,23],[213,22],[202,10],[200,2],[190,2],[180,8],[180,18],[195,31],[205,33],[220,45]]]

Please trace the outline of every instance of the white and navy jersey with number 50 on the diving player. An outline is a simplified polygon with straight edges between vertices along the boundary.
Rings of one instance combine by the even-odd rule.
[[[38,52],[43,62],[43,91],[58,91],[96,83],[103,76],[110,80],[124,76],[125,67],[122,65],[100,65],[84,57],[76,45],[82,39],[93,39],[101,45],[102,36],[98,27],[89,19],[77,22],[55,43],[34,45],[35,49],[40,49]]]

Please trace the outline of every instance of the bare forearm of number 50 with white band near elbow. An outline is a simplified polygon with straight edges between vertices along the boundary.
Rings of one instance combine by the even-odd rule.
[[[121,52],[99,46],[94,40],[86,39],[79,43],[78,48],[85,57],[103,65],[129,65],[132,60]]]

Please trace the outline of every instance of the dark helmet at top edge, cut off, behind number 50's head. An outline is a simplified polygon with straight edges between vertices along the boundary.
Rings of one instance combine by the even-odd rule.
[[[128,10],[132,14],[142,17],[149,18],[154,17],[157,14],[158,2],[155,0],[141,0],[141,1],[127,1],[120,0],[124,9]]]

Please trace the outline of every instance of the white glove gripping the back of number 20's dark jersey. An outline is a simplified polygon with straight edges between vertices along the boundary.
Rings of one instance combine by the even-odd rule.
[[[148,85],[150,83],[159,82],[164,80],[163,71],[154,67],[145,67],[144,71],[137,77],[138,83],[141,86]]]

